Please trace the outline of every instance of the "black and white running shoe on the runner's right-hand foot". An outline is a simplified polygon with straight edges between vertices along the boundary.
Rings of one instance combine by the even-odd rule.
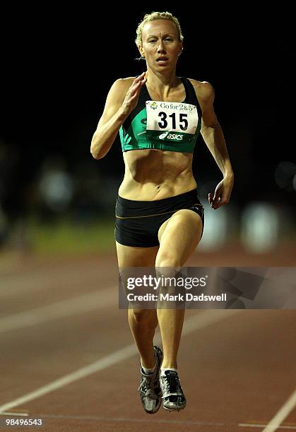
[[[160,376],[160,387],[164,409],[167,409],[167,411],[180,411],[186,407],[186,397],[177,372],[165,371],[165,376]]]

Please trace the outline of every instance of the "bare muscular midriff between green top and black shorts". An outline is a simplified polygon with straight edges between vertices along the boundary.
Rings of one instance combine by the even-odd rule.
[[[124,163],[124,179],[118,193],[128,200],[162,200],[197,187],[191,153],[129,150],[124,152]]]

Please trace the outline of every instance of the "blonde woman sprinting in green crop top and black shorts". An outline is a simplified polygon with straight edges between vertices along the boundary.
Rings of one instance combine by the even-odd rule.
[[[119,268],[182,268],[203,232],[203,207],[191,168],[199,132],[223,174],[215,193],[208,194],[213,209],[229,202],[233,172],[211,84],[176,76],[183,49],[177,18],[150,13],[136,35],[146,71],[114,82],[90,151],[101,159],[119,132],[125,164],[116,204]],[[141,357],[143,409],[154,414],[161,400],[169,411],[184,409],[177,370],[184,308],[129,309],[128,318]],[[153,347],[157,325],[163,357]]]

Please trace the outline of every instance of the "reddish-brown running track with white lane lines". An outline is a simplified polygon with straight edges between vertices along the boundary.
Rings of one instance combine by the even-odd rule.
[[[187,265],[293,266],[294,256],[232,247]],[[11,430],[296,431],[295,311],[187,311],[179,350],[187,408],[151,416],[118,309],[116,258],[2,258],[0,430],[8,418],[41,418],[42,427]]]

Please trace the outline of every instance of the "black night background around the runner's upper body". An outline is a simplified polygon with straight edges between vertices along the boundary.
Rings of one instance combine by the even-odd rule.
[[[90,140],[114,80],[145,69],[135,60],[134,39],[144,13],[162,10],[153,6],[102,11],[85,4],[61,11],[43,5],[2,14],[0,203],[10,221],[32,212],[48,217],[38,184],[50,167],[73,183],[60,213],[90,220],[113,212],[124,168],[119,139],[100,161],[90,155]],[[177,75],[207,80],[215,89],[235,170],[232,202],[244,208],[267,201],[295,212],[292,12],[259,14],[247,4],[231,11],[198,4],[166,9],[184,35]],[[290,164],[281,169],[282,162]],[[201,137],[194,174],[199,186],[220,181]]]

